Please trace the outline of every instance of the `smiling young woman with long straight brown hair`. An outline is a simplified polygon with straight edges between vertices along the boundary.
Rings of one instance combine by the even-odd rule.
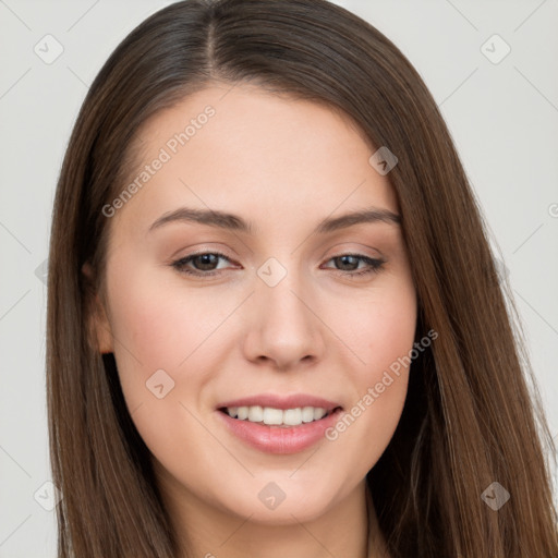
[[[558,555],[476,202],[355,15],[151,15],[83,104],[51,234],[60,557]]]

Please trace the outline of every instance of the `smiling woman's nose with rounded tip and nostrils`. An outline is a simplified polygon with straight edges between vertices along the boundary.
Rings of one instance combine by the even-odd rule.
[[[247,360],[280,371],[322,360],[327,328],[307,284],[291,272],[275,287],[258,278],[251,299],[243,348]]]

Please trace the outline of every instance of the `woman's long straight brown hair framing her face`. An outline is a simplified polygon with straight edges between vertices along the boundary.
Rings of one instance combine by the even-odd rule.
[[[326,102],[399,159],[388,178],[418,298],[416,338],[438,337],[413,362],[401,421],[367,475],[391,556],[558,556],[543,447],[554,456],[554,441],[517,312],[417,72],[376,28],[325,0],[187,0],[144,21],[105,63],[58,182],[47,391],[52,477],[63,495],[59,558],[179,556],[114,359],[99,353],[88,324],[104,292],[111,220],[102,207],[126,183],[140,126],[215,80]],[[493,482],[510,494],[498,511],[482,498]]]

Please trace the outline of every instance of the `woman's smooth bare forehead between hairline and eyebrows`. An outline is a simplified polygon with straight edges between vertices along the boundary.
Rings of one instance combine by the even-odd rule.
[[[140,163],[122,186],[135,180],[141,187],[118,220],[150,225],[180,206],[263,227],[369,206],[398,210],[387,177],[368,162],[374,147],[350,117],[246,84],[185,97],[147,121],[133,147]],[[154,170],[156,160],[163,162]]]

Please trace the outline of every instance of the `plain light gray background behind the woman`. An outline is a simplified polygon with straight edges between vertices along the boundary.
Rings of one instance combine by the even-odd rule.
[[[37,499],[48,501],[51,494],[43,486],[50,469],[40,266],[64,149],[101,64],[133,27],[168,3],[0,0],[1,558],[56,555],[54,512],[34,495],[39,490]],[[558,2],[337,3],[398,45],[440,105],[501,250],[558,434]],[[34,51],[47,34],[64,49],[51,64]],[[481,50],[494,34],[511,48],[499,63]],[[493,58],[501,48],[494,39],[485,47]]]

